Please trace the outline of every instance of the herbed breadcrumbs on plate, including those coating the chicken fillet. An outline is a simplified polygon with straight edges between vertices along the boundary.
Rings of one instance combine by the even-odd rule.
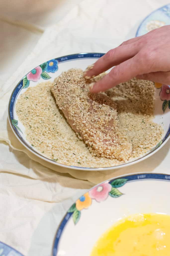
[[[132,161],[161,140],[163,129],[153,122],[155,90],[152,82],[132,79],[106,93],[90,94],[89,82],[82,73],[74,69],[68,76],[64,72],[55,79],[55,85],[50,81],[39,83],[20,95],[16,112],[35,150],[62,164],[97,168]],[[57,88],[60,90],[57,84],[69,98],[62,90],[57,94]],[[71,126],[78,128],[74,127],[77,133]],[[98,148],[101,146],[98,136],[101,142],[105,142],[105,138],[110,142]]]

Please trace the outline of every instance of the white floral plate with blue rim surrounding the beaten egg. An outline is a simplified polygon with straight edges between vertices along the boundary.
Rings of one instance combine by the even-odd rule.
[[[53,256],[90,255],[117,220],[132,214],[170,214],[170,175],[139,173],[109,179],[81,196],[57,230]]]

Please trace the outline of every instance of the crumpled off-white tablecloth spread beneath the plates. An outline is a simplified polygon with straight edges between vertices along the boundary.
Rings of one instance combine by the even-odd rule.
[[[17,141],[7,123],[10,93],[30,69],[62,55],[106,52],[134,37],[141,20],[167,3],[164,0],[0,2],[0,241],[24,255],[50,255],[65,211],[93,184],[131,172],[170,173],[170,141],[147,160],[128,168],[114,172],[74,172],[40,164]]]

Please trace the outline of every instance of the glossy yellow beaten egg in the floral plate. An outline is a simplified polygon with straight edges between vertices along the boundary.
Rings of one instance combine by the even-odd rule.
[[[169,256],[170,216],[137,214],[118,221],[97,241],[91,256]]]

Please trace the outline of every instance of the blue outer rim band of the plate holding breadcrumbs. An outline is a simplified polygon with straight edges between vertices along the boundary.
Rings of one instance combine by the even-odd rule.
[[[94,58],[94,59],[98,59],[99,57],[102,57],[104,55],[104,53],[98,53],[98,52],[81,52],[81,53],[77,53],[77,54],[71,54],[71,55],[65,55],[65,56],[61,56],[58,58],[54,58],[56,60],[58,60],[59,63],[62,62],[66,62],[66,61],[70,61],[70,60],[77,60],[77,59],[88,59],[88,58]],[[84,57],[85,56],[85,57]],[[67,59],[66,59],[67,58]],[[41,64],[40,64],[41,65]],[[29,71],[30,72],[30,71]],[[28,72],[28,73],[29,73]],[[27,73],[27,74],[28,74]],[[27,75],[25,74],[25,75]],[[24,78],[24,77],[23,77]],[[73,165],[65,165],[65,164],[60,164],[57,163],[54,160],[49,159],[48,157],[41,155],[41,153],[38,153],[37,151],[35,151],[32,147],[30,147],[20,136],[19,132],[17,131],[16,127],[14,127],[12,125],[11,120],[13,119],[13,112],[14,112],[14,106],[15,106],[15,100],[17,98],[17,95],[19,93],[19,91],[22,88],[22,82],[23,82],[23,78],[17,83],[17,85],[15,86],[14,90],[11,93],[10,99],[9,99],[9,103],[8,103],[8,120],[9,120],[9,124],[11,126],[12,131],[14,132],[15,136],[17,137],[17,139],[22,143],[23,146],[25,146],[31,153],[35,154],[36,156],[38,156],[39,158],[43,159],[44,161],[47,161],[49,163],[55,164],[57,166],[61,166],[64,168],[69,168],[69,169],[76,169],[76,170],[87,170],[87,171],[100,171],[100,170],[112,170],[112,169],[117,169],[117,168],[121,168],[124,166],[128,166],[128,165],[133,165],[137,162],[143,161],[144,159],[146,159],[147,157],[151,156],[152,154],[156,153],[170,138],[170,124],[169,124],[169,128],[167,133],[165,134],[164,138],[162,139],[162,143],[159,146],[155,146],[154,148],[152,148],[150,151],[148,151],[144,156],[141,156],[137,159],[134,159],[134,161],[131,162],[127,162],[127,163],[123,163],[121,165],[117,165],[117,166],[111,166],[111,167],[99,167],[99,168],[89,168],[89,167],[79,167],[79,166],[73,166]],[[20,87],[19,87],[20,86]],[[16,92],[16,90],[18,89],[15,97],[13,97],[14,93]],[[12,98],[13,97],[13,98]],[[13,102],[12,102],[13,100]],[[12,102],[12,105],[11,105]],[[10,109],[12,109],[12,112],[10,111]]]

